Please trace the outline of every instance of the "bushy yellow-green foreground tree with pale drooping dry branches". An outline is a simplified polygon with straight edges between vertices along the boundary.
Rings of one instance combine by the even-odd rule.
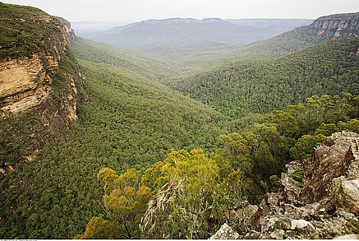
[[[222,182],[218,174],[202,149],[173,150],[147,169],[142,183],[153,185],[155,194],[141,222],[143,238],[208,238],[224,220],[228,204],[241,199],[245,180],[240,169]]]

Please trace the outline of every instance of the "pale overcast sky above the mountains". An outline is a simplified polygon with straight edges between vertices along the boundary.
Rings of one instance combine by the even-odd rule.
[[[305,18],[358,12],[359,0],[3,0],[41,8],[69,21],[131,23],[171,17]]]

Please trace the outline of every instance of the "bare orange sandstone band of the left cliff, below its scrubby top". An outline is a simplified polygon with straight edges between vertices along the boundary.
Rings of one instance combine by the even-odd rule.
[[[65,27],[55,17],[39,17],[36,23],[53,23],[54,30],[47,33],[42,48],[18,59],[3,59],[0,63],[0,109],[2,115],[17,114],[36,107],[51,93],[50,74],[64,60],[67,39]]]

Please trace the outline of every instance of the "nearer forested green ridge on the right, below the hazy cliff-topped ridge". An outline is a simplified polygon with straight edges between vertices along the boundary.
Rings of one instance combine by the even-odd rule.
[[[313,95],[359,94],[359,37],[329,41],[273,60],[232,61],[168,85],[228,116],[303,103]]]

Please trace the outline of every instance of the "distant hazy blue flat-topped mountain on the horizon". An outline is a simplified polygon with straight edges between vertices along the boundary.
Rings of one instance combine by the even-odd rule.
[[[279,31],[280,32],[280,31]],[[282,31],[283,32],[283,31]],[[151,19],[83,37],[119,48],[138,48],[159,56],[167,52],[203,52],[233,48],[275,36],[278,30],[233,24],[222,19]],[[158,51],[162,52],[158,52]]]

